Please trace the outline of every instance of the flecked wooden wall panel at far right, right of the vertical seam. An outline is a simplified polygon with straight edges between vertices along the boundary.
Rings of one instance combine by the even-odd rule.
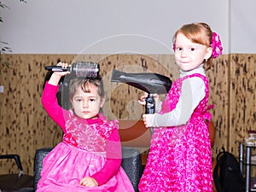
[[[256,55],[230,55],[230,151],[256,130]]]

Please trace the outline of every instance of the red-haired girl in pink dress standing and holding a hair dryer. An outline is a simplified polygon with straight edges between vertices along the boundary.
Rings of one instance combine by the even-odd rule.
[[[205,23],[182,26],[173,42],[180,78],[164,102],[154,94],[157,113],[143,114],[144,124],[154,132],[139,190],[212,192],[212,150],[205,122],[211,119],[209,83],[203,65],[220,55],[222,47]]]

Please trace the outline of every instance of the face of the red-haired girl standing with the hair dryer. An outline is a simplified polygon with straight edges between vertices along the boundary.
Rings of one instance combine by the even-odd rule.
[[[199,67],[204,60],[212,55],[212,48],[195,44],[186,38],[182,32],[177,33],[175,42],[175,60],[183,71],[190,71]]]

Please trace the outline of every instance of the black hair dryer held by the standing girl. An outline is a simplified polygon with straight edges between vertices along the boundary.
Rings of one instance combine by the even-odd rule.
[[[154,113],[155,102],[153,93],[166,94],[172,86],[168,77],[158,73],[124,73],[113,69],[111,82],[129,84],[139,90],[148,92],[145,113]],[[153,128],[150,128],[151,133]]]

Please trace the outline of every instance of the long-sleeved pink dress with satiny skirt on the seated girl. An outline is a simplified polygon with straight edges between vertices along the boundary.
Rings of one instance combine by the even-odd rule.
[[[121,145],[117,120],[101,113],[97,119],[81,119],[62,109],[55,98],[57,86],[46,84],[42,96],[45,110],[64,131],[63,141],[44,158],[37,192],[134,191],[120,166]],[[79,184],[94,177],[99,186]]]

